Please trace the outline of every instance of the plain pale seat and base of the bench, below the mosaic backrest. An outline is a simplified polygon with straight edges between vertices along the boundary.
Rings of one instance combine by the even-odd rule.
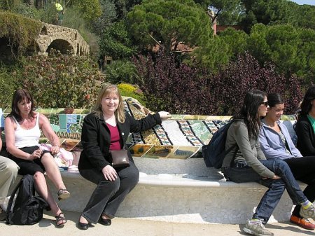
[[[165,165],[161,160],[134,160],[140,171],[139,183],[118,209],[119,217],[186,223],[245,223],[267,190],[255,182],[225,181],[221,172],[213,168],[205,168],[204,171],[200,169],[200,174],[197,174],[198,169],[194,168],[204,165],[200,158],[172,160],[169,163],[172,169],[165,170],[164,173],[146,173],[141,169],[146,164],[152,165],[152,161],[159,169],[159,165]],[[170,174],[185,163],[190,166],[190,174],[185,173],[185,168],[183,172]],[[70,211],[83,211],[94,190],[94,184],[77,172],[62,172],[62,177],[72,197],[59,202],[60,207]],[[304,184],[300,186],[305,187]],[[51,183],[50,187],[54,188]],[[288,221],[292,207],[290,197],[284,193],[270,222]]]

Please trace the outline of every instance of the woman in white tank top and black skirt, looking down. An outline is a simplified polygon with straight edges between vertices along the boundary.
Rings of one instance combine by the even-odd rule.
[[[52,144],[51,152],[39,148],[41,131]],[[46,172],[48,178],[59,189],[57,193],[59,200],[66,200],[70,196],[52,156],[59,152],[59,138],[52,130],[49,120],[44,115],[34,112],[34,100],[27,90],[15,91],[11,113],[5,120],[5,132],[8,158],[19,165],[19,174],[34,176],[36,191],[48,202],[56,217],[56,225],[63,226],[66,218],[52,197],[44,176]]]

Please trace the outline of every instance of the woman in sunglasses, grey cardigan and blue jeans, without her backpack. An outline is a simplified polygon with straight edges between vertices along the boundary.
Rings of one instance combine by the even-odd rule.
[[[230,126],[225,143],[225,150],[237,144],[223,161],[225,178],[237,183],[256,181],[268,188],[255,209],[255,214],[243,229],[251,235],[274,235],[265,229],[265,224],[286,188],[293,203],[302,205],[301,216],[315,218],[314,205],[304,196],[286,162],[279,159],[266,160],[260,149],[260,117],[266,116],[267,107],[265,92],[247,92],[243,106],[232,117],[237,120]]]

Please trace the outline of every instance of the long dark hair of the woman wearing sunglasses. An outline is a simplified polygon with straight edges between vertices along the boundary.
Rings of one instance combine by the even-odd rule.
[[[258,108],[264,102],[267,94],[260,90],[250,90],[246,92],[243,106],[232,119],[244,119],[248,129],[248,136],[258,138],[261,122],[258,114]]]

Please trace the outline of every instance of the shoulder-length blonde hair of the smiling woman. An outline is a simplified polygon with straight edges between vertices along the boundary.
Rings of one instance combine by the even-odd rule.
[[[92,109],[92,112],[95,113],[95,116],[100,118],[103,116],[103,111],[102,111],[102,98],[106,97],[108,95],[115,94],[118,96],[119,103],[118,103],[118,108],[115,111],[115,116],[116,119],[120,123],[125,123],[125,111],[124,111],[124,104],[123,104],[123,97],[121,97],[120,92],[118,90],[117,85],[113,85],[111,83],[106,83],[104,88],[99,92],[99,95],[97,96],[97,101]]]

